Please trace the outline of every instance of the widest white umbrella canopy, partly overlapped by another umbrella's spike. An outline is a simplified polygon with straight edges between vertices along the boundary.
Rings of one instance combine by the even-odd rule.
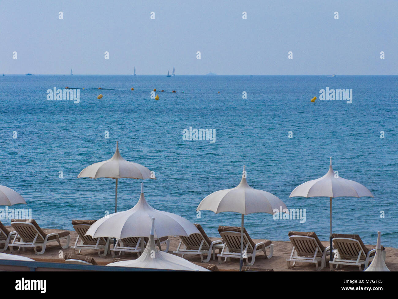
[[[187,219],[176,214],[152,208],[144,197],[144,183],[141,183],[141,195],[137,204],[130,210],[110,214],[93,223],[86,235],[93,238],[113,237],[118,239],[129,237],[149,237],[152,217],[156,221],[158,238],[179,235],[189,236],[199,230]]]

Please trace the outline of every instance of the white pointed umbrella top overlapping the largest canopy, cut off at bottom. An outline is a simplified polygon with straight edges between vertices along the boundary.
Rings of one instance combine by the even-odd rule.
[[[185,271],[209,271],[201,266],[197,266],[185,260],[185,258],[180,258],[174,254],[158,250],[155,246],[155,230],[155,218],[153,217],[149,241],[140,257],[136,260],[126,260],[107,264],[107,266]]]

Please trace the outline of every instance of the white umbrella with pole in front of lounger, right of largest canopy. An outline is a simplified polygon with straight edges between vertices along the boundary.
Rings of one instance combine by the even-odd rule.
[[[257,190],[249,186],[246,181],[246,171],[243,167],[243,175],[240,184],[232,189],[216,191],[206,196],[199,206],[199,210],[210,210],[220,212],[237,212],[242,214],[242,229],[240,230],[240,270],[243,264],[243,231],[244,215],[251,213],[273,214],[273,210],[286,209],[282,200],[272,193],[263,190]]]

